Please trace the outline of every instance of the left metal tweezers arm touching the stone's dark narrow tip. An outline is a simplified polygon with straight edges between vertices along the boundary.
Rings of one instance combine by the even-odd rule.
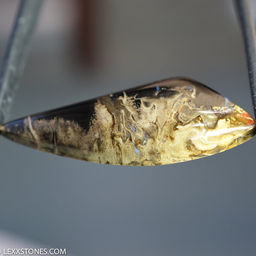
[[[22,0],[0,67],[0,124],[7,121],[43,0]]]

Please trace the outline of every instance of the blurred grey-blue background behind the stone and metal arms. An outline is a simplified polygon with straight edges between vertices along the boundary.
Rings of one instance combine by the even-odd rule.
[[[10,119],[173,76],[199,80],[253,115],[231,0],[98,0],[85,8],[89,27],[79,3],[45,1]],[[0,2],[1,56],[17,5]],[[1,138],[0,249],[26,240],[68,255],[255,255],[255,146],[130,167]]]

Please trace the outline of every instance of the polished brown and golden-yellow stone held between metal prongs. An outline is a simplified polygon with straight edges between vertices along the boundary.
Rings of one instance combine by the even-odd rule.
[[[228,150],[255,134],[254,119],[203,84],[171,78],[0,126],[18,143],[81,160],[158,165]]]

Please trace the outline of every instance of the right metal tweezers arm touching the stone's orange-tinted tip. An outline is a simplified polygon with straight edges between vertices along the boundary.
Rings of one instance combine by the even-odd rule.
[[[256,35],[254,20],[249,0],[235,0],[234,2],[237,6],[243,31],[253,111],[256,117]]]

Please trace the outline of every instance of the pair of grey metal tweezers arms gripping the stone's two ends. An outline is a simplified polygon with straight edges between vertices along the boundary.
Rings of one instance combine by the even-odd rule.
[[[32,34],[43,0],[22,0],[0,67],[0,124],[7,121],[13,97],[22,77]],[[250,89],[256,117],[256,35],[250,0],[234,0],[247,56]]]

